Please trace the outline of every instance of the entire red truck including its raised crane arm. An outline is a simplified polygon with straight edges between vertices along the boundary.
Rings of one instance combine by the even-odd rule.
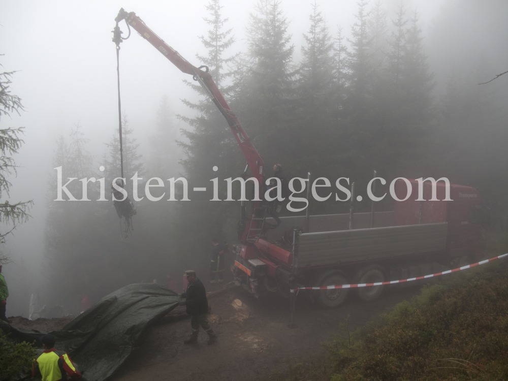
[[[148,28],[134,12],[120,9],[115,18],[113,41],[123,40],[118,23],[128,26],[152,44],[182,72],[190,74],[205,89],[226,118],[246,160],[244,176],[250,168],[252,177],[264,186],[263,160],[242,125],[213,82],[208,68],[191,65],[177,51]],[[264,237],[268,218],[264,201],[252,201],[250,213],[242,202],[240,245],[236,246],[233,267],[235,282],[256,297],[280,292],[289,296],[290,283],[297,287],[335,284],[373,283],[404,279],[440,271],[440,266],[462,265],[481,253],[483,207],[474,188],[450,185],[453,201],[415,201],[417,181],[411,180],[412,192],[406,201],[395,202],[391,212],[332,214],[281,217],[279,231],[294,226],[291,248],[282,248]],[[446,187],[438,182],[435,192],[444,199]],[[406,194],[406,183],[397,180],[397,195]],[[260,192],[264,194],[264,192]],[[431,200],[432,184],[424,183],[425,200]],[[373,220],[374,224],[369,225]],[[348,228],[349,223],[349,228]],[[370,227],[372,226],[372,227]],[[358,288],[363,300],[377,299],[384,286]],[[323,307],[336,307],[346,298],[348,289],[315,291],[314,300]]]

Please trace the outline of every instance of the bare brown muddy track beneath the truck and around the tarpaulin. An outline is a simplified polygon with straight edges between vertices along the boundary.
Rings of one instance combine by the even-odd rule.
[[[209,321],[217,333],[216,343],[207,345],[208,336],[200,330],[198,344],[184,345],[183,340],[190,334],[190,321],[181,314],[184,307],[178,307],[172,311],[173,317],[165,317],[149,328],[140,347],[112,380],[268,379],[274,370],[287,370],[289,359],[305,361],[318,357],[324,351],[323,341],[343,334],[341,325],[347,316],[349,329],[354,331],[419,290],[420,287],[394,285],[381,299],[371,303],[360,301],[351,290],[342,306],[328,310],[316,308],[304,297],[305,291],[301,291],[295,314],[298,327],[290,329],[287,299],[276,295],[261,301],[241,288],[229,288],[209,297]],[[68,318],[10,319],[15,327],[46,332],[61,329],[69,322]]]

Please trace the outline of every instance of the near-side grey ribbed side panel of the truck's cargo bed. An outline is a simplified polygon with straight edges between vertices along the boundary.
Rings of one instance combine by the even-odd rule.
[[[439,252],[446,244],[447,223],[304,233],[298,267]]]

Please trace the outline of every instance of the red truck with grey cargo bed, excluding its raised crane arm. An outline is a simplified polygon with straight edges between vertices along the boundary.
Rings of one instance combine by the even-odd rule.
[[[243,247],[239,248],[237,262],[242,267],[237,278],[255,295],[279,291],[288,296],[292,278],[297,287],[374,283],[433,274],[443,266],[463,266],[479,259],[486,211],[478,190],[451,184],[453,201],[442,201],[446,185],[439,182],[435,185],[438,201],[429,201],[432,184],[425,182],[423,198],[427,201],[416,201],[418,182],[409,182],[412,192],[407,200],[395,201],[393,211],[376,212],[372,228],[372,213],[356,213],[349,227],[350,214],[281,217],[282,230],[305,227],[294,230],[292,249],[260,239],[254,243],[257,256],[246,258]],[[406,189],[403,180],[396,181],[398,199],[406,196]],[[385,287],[355,291],[361,299],[373,301]],[[348,292],[313,291],[313,298],[323,307],[336,307]]]

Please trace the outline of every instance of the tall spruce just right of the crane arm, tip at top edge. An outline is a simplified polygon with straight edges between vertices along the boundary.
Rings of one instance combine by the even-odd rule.
[[[240,120],[255,139],[267,168],[289,162],[295,147],[292,122],[296,119],[296,71],[292,65],[294,46],[290,45],[287,29],[288,21],[278,1],[261,0],[255,13],[250,14],[250,68]]]

